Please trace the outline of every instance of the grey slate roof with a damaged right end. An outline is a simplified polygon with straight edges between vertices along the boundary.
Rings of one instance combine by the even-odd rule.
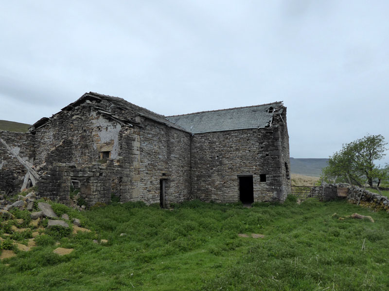
[[[274,114],[268,113],[270,107],[276,109],[277,113],[283,111],[283,103],[280,101],[256,106],[167,116],[166,118],[192,133],[257,129],[270,125]]]

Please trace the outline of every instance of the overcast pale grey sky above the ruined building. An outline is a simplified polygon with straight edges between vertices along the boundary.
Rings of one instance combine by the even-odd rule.
[[[284,101],[291,157],[389,142],[388,0],[1,1],[0,55],[0,119],[89,91],[164,115]]]

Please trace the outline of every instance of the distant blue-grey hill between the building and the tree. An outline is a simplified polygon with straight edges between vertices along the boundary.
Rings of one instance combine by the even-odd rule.
[[[321,169],[327,166],[328,159],[290,158],[290,172],[305,176],[319,177]]]

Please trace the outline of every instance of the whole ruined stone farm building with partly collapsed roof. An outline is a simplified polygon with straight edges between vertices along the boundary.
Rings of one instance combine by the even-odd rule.
[[[41,196],[63,203],[73,187],[89,205],[114,194],[161,206],[283,201],[290,193],[282,102],[162,116],[89,92],[28,132],[0,138],[6,193],[36,182]]]

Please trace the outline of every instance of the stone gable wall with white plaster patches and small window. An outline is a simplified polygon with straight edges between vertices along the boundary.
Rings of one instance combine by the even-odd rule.
[[[35,165],[73,162],[77,166],[99,160],[99,146],[112,144],[118,152],[121,126],[82,104],[71,112],[54,115],[49,124],[35,132]]]

